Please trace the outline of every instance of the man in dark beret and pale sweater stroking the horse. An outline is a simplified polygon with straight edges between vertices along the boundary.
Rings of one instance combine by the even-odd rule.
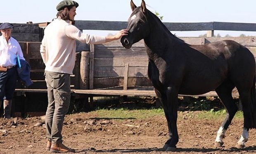
[[[102,44],[120,39],[127,30],[109,37],[85,34],[70,23],[74,21],[78,3],[60,2],[57,18],[45,28],[40,53],[45,63],[48,107],[45,115],[47,148],[52,152],[74,152],[62,144],[62,126],[70,104],[70,74],[75,65],[76,40],[86,44]]]

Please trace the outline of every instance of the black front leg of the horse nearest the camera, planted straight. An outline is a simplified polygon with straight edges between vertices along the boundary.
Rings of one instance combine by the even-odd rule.
[[[166,151],[176,151],[176,144],[179,141],[178,129],[177,129],[177,109],[178,109],[178,89],[175,87],[168,87],[166,90],[167,96],[167,109],[168,117],[171,123],[171,142],[168,145]]]

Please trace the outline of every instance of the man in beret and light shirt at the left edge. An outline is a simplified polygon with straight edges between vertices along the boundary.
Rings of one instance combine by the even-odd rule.
[[[13,25],[2,23],[0,25],[0,106],[4,99],[4,117],[11,117],[12,97],[18,79],[17,56],[25,60],[21,47],[16,39],[11,37]]]

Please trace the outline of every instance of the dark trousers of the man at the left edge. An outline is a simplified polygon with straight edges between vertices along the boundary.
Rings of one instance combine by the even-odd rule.
[[[18,79],[17,67],[0,71],[0,101],[2,99],[12,100]]]

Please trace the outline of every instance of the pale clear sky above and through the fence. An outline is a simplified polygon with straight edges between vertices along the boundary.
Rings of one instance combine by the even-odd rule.
[[[8,0],[0,8],[0,23],[50,22],[57,14],[56,6],[61,0]],[[75,0],[79,7],[75,20],[127,21],[131,14],[130,0]],[[140,6],[141,0],[133,0]],[[234,22],[256,23],[256,0],[145,0],[147,9],[157,11],[163,22]],[[7,5],[9,3],[10,5]],[[105,36],[115,31],[85,30],[88,34]],[[172,32],[178,37],[198,37],[206,31]],[[226,34],[256,36],[256,32],[215,31]]]

